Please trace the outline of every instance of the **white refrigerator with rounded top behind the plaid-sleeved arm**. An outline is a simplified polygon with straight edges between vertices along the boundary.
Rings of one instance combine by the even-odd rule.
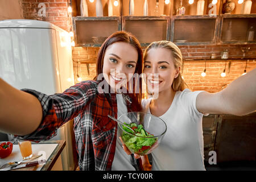
[[[0,77],[17,89],[64,92],[74,85],[68,32],[39,20],[0,21]],[[51,139],[66,140],[60,160],[63,170],[73,170],[77,161],[72,122],[60,127]]]

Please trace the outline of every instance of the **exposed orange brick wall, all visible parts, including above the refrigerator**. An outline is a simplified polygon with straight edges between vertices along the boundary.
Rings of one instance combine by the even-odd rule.
[[[67,0],[21,0],[23,8],[23,16],[25,19],[45,20],[50,23],[69,31],[71,26],[68,19],[68,3]],[[46,17],[39,17],[38,7],[40,2],[46,4]],[[254,45],[225,45],[225,46],[179,46],[184,59],[209,59],[212,53],[216,54],[216,58],[220,59],[221,51],[228,49],[230,59],[241,59],[243,53],[241,47],[250,47],[250,51],[246,53],[246,58],[256,59],[256,44]],[[73,69],[75,82],[77,81],[77,73],[82,80],[92,80],[96,76],[96,64],[79,64],[77,61],[83,59],[96,59],[98,47],[73,47]],[[221,77],[220,73],[225,67],[225,62],[207,62],[207,76],[202,77],[201,72],[204,71],[204,61],[185,61],[183,68],[183,77],[191,90],[206,90],[208,92],[218,92],[223,85],[229,84],[237,77],[241,76],[245,69],[245,62],[232,61],[230,69],[228,63],[226,65],[226,77]],[[256,61],[247,63],[247,72],[256,68]]]

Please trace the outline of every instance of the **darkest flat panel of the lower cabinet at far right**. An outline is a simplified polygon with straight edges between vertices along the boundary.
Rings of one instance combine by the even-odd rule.
[[[256,161],[256,112],[236,116],[221,114],[214,150],[217,163]]]

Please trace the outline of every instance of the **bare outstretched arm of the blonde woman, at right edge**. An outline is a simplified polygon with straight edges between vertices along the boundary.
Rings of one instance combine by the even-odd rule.
[[[201,113],[246,115],[256,110],[256,68],[217,93],[201,92],[196,98]]]

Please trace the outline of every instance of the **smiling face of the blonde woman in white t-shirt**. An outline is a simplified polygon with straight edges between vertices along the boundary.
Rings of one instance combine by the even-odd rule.
[[[143,73],[146,74],[148,92],[162,92],[171,89],[174,78],[179,75],[180,67],[175,68],[172,53],[166,48],[152,48],[144,60]],[[150,74],[148,74],[150,73]]]

